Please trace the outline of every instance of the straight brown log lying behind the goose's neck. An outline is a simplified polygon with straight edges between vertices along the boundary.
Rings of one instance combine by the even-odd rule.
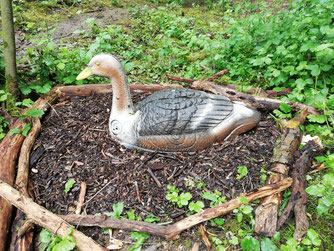
[[[132,91],[156,92],[167,88],[182,88],[181,85],[130,85]],[[71,85],[57,88],[57,93],[65,96],[88,97],[92,95],[101,95],[112,93],[111,84],[94,84],[94,85]]]

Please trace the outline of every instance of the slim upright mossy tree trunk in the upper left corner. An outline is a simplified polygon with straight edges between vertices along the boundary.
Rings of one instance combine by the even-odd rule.
[[[14,106],[19,96],[16,71],[16,50],[11,0],[1,0],[1,18],[3,31],[6,91],[12,95],[7,99],[7,109]]]

